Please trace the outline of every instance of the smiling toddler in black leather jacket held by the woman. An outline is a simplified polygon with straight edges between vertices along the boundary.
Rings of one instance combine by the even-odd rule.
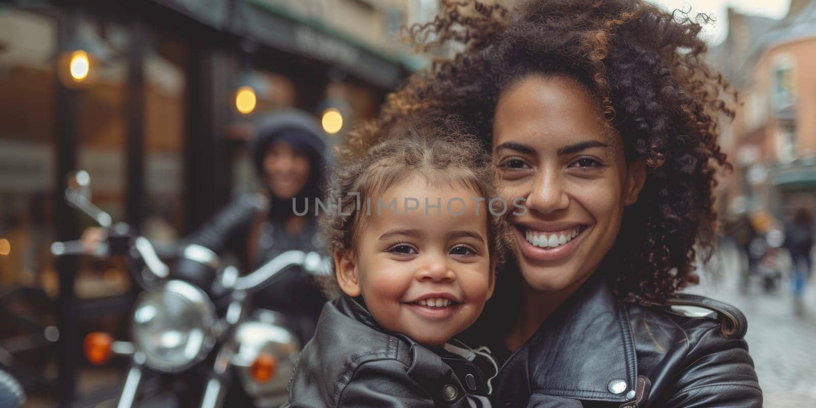
[[[300,355],[290,406],[490,406],[498,367],[453,337],[493,293],[506,227],[488,209],[492,158],[461,129],[402,127],[335,170],[324,231],[336,299]]]

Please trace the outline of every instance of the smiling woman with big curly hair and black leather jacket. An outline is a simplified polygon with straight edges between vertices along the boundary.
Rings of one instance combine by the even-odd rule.
[[[526,198],[508,215],[513,262],[468,336],[504,361],[494,405],[761,406],[742,313],[678,293],[712,250],[714,175],[729,167],[707,16],[641,0],[443,5],[413,33],[463,51],[410,78],[351,146],[455,116],[494,154],[500,195]]]

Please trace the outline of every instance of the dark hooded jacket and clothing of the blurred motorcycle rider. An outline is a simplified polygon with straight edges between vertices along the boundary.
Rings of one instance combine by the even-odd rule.
[[[250,142],[250,153],[260,180],[264,180],[264,156],[277,141],[290,144],[304,153],[311,162],[311,173],[303,190],[295,197],[303,206],[306,197],[313,202],[322,197],[326,180],[326,161],[322,130],[306,113],[283,111],[259,119],[255,123],[255,137]],[[302,211],[302,209],[298,209]],[[304,215],[308,222],[302,233],[286,232],[284,223],[295,215],[292,201],[277,199],[266,187],[258,193],[237,197],[209,222],[188,237],[189,243],[206,246],[215,253],[229,252],[240,260],[243,273],[249,273],[284,251],[321,251],[317,239],[317,220],[313,212]],[[201,268],[194,261],[184,260],[176,268],[178,277],[196,283],[203,289],[211,287],[215,278],[211,269]],[[273,286],[253,297],[256,307],[282,312],[290,320],[289,326],[305,343],[311,338],[317,317],[326,302],[320,286],[313,277],[300,268],[282,271]]]

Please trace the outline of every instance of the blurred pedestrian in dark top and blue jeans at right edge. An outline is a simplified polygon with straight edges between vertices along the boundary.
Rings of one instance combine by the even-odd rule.
[[[793,304],[797,315],[805,313],[802,295],[809,281],[813,258],[810,250],[814,245],[813,216],[807,208],[800,206],[793,211],[791,220],[785,223],[785,247],[791,253],[791,280]]]

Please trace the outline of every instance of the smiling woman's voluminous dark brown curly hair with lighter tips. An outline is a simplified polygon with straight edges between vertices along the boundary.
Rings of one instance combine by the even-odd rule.
[[[377,122],[353,134],[367,149],[378,129],[425,113],[452,114],[490,149],[502,91],[530,74],[563,75],[596,100],[625,158],[643,160],[645,186],[623,215],[604,261],[621,299],[658,302],[698,282],[695,259],[711,257],[715,173],[730,169],[717,119],[734,118],[736,92],[707,67],[698,37],[709,16],[662,11],[641,0],[534,0],[512,12],[476,0],[443,0],[440,16],[414,38],[463,44],[388,95]],[[620,272],[618,272],[620,271]]]

